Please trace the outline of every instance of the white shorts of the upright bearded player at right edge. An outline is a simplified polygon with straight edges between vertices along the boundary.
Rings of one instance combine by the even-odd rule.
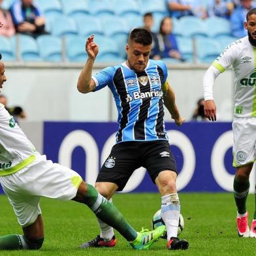
[[[236,118],[232,122],[234,135],[233,166],[241,167],[256,159],[256,118]]]

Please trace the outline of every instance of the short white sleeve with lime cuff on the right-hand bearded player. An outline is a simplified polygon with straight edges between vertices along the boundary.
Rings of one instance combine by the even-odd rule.
[[[234,44],[229,44],[221,54],[216,58],[212,65],[223,73],[228,67],[234,64],[236,59],[236,50],[234,49]]]

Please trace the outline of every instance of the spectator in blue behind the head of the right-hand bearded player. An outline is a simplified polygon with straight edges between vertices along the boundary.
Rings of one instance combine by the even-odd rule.
[[[256,4],[251,0],[240,0],[240,5],[234,9],[231,14],[231,33],[233,37],[241,38],[248,35],[248,31],[244,28],[246,14],[251,8],[256,8]]]

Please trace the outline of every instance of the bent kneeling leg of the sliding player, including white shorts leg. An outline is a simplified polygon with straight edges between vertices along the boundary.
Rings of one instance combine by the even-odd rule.
[[[20,191],[22,176],[12,174],[12,177],[1,177],[1,185],[8,196],[10,204],[22,226],[24,234],[8,234],[0,236],[1,249],[40,249],[44,242],[44,227],[39,206],[40,197],[28,195]],[[16,187],[13,186],[16,184]]]

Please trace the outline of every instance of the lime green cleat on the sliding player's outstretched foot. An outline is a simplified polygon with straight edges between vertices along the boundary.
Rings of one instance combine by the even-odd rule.
[[[152,244],[156,242],[161,236],[163,236],[163,232],[165,232],[165,226],[159,226],[153,231],[148,231],[148,229],[143,229],[140,232],[137,232],[138,236],[133,242],[130,242],[131,247],[137,250],[145,250],[150,249]]]

